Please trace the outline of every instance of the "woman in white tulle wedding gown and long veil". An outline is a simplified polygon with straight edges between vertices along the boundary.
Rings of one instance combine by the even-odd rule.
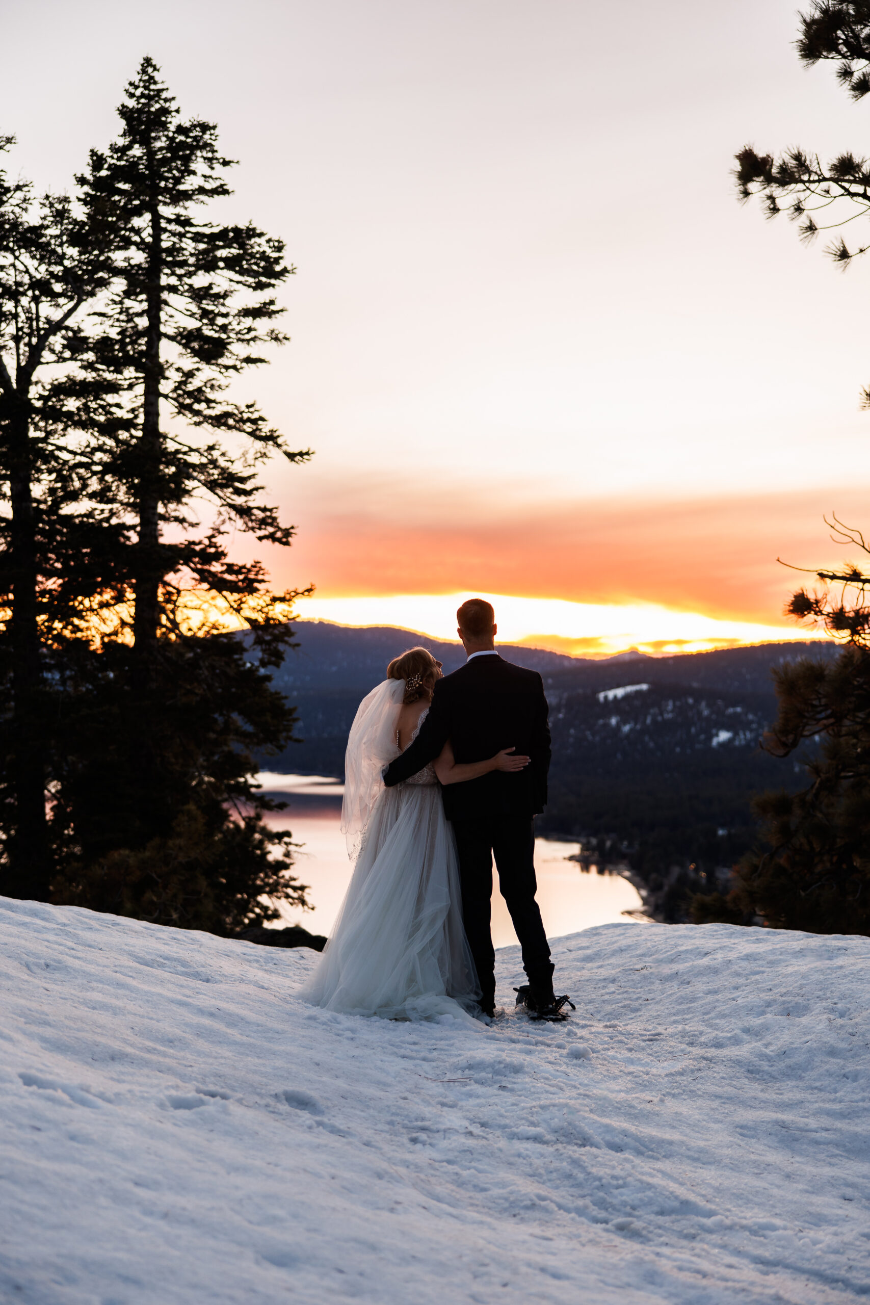
[[[359,706],[347,741],[342,831],[356,856],[335,927],[299,996],[314,1006],[390,1019],[468,1018],[480,989],[462,925],[459,865],[438,784],[522,770],[505,749],[457,765],[450,743],[408,780],[383,767],[416,739],[441,662],[427,649],[394,658]]]

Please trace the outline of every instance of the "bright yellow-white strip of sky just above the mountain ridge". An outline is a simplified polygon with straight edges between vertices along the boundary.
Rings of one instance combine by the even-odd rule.
[[[339,625],[397,625],[432,638],[455,639],[457,607],[467,598],[485,598],[493,604],[500,642],[524,642],[574,656],[609,656],[631,647],[659,655],[694,652],[737,643],[811,637],[793,625],[716,620],[656,603],[570,603],[503,594],[314,596],[300,602],[299,616]]]

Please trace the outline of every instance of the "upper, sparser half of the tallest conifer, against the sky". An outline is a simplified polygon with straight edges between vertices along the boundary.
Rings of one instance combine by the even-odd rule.
[[[223,176],[232,161],[218,153],[214,124],[181,121],[158,73],[142,60],[119,107],[120,137],[91,151],[78,177],[87,217],[113,251],[86,365],[116,395],[94,420],[113,441],[106,474],[136,517],[132,632],[142,685],[159,636],[181,628],[181,595],[219,595],[240,617],[254,613],[258,629],[280,624],[296,591],[271,596],[262,566],[228,562],[223,540],[232,523],[263,543],[290,544],[293,527],[260,501],[256,468],[273,454],[310,455],[291,450],[256,403],[227,395],[236,376],[266,361],[263,345],[286,341],[274,325],[283,312],[274,290],[295,269],[283,241],[250,223],[197,218],[198,207],[232,193]],[[197,495],[214,505],[211,526],[198,534]]]

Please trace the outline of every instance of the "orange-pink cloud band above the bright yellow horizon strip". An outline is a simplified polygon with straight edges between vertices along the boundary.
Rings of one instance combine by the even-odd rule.
[[[293,487],[297,492],[299,484]],[[861,525],[866,489],[823,488],[693,501],[557,502],[443,484],[321,482],[296,510],[297,542],[266,560],[275,582],[321,596],[460,590],[584,603],[652,602],[741,621],[777,621],[800,576],[857,552],[823,514]]]

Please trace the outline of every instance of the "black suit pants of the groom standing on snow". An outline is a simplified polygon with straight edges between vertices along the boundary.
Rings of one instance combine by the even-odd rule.
[[[484,1009],[496,996],[496,953],[489,929],[492,911],[493,855],[498,887],[507,903],[523,949],[523,970],[535,987],[553,977],[550,949],[535,900],[535,825],[528,817],[484,817],[453,822],[459,851],[462,917],[477,968]]]

